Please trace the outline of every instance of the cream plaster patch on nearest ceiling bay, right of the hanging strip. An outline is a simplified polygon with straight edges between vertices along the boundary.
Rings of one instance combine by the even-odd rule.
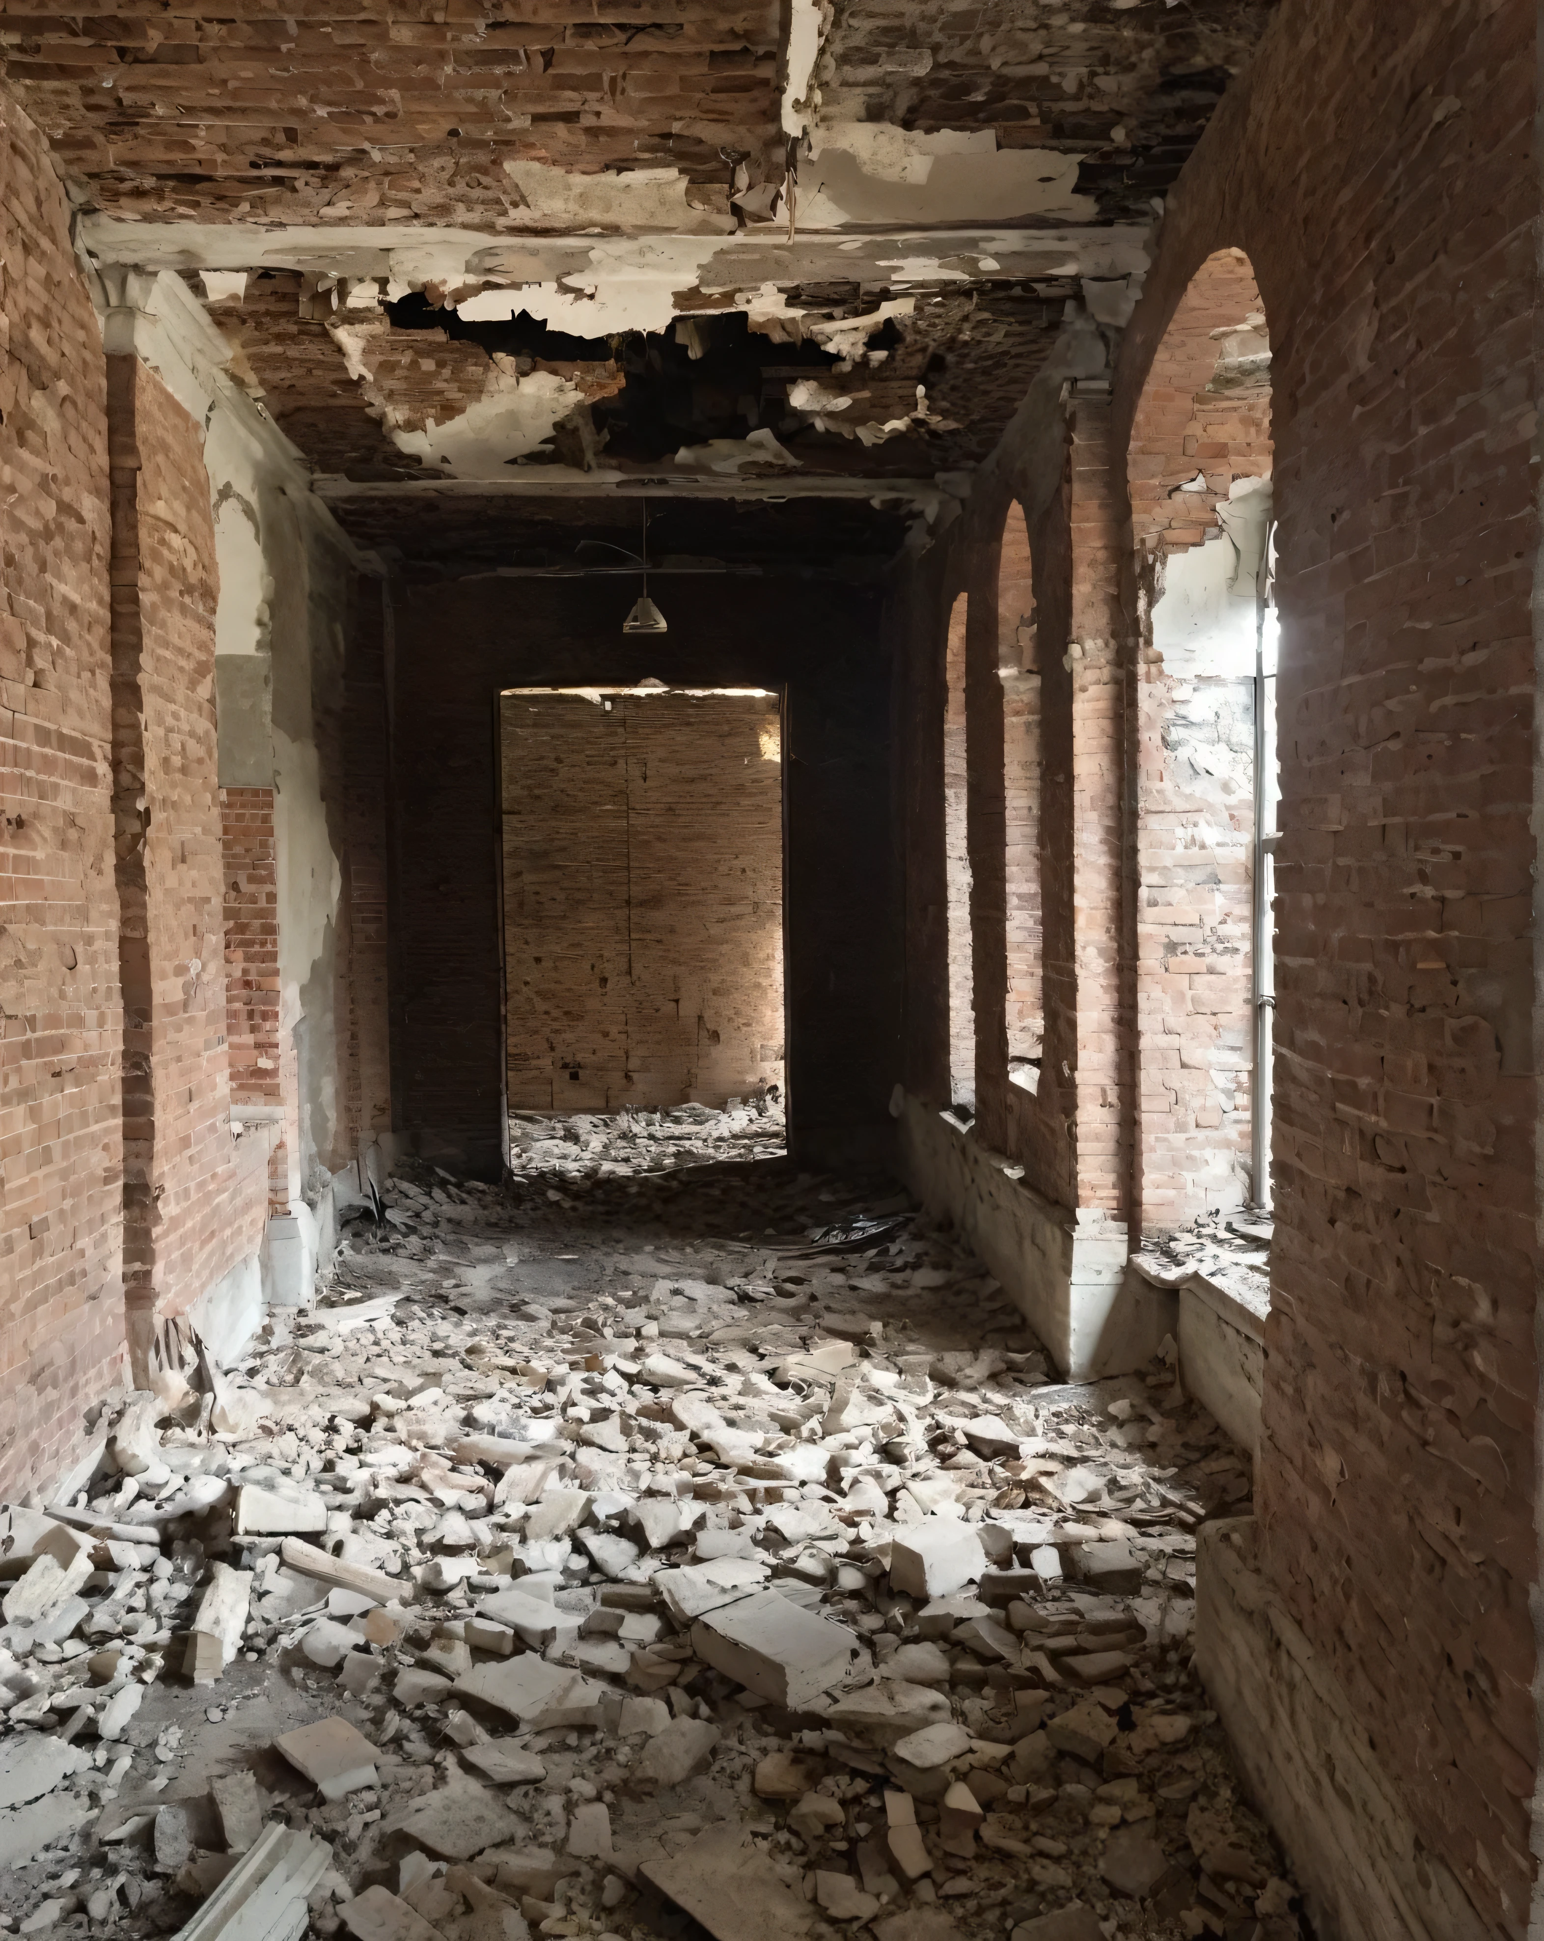
[[[799,192],[801,229],[1098,215],[1094,196],[1075,192],[1077,155],[999,149],[993,128],[921,134],[892,122],[832,122],[811,132],[811,155]]]

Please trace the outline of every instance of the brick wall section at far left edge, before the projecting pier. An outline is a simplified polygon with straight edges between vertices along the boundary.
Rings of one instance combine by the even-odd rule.
[[[0,1497],[122,1359],[101,334],[43,138],[0,93]]]

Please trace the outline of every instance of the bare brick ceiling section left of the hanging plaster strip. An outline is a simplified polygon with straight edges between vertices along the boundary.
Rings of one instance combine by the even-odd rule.
[[[512,159],[683,169],[778,122],[772,0],[0,8],[6,74],[103,208],[497,225]]]

